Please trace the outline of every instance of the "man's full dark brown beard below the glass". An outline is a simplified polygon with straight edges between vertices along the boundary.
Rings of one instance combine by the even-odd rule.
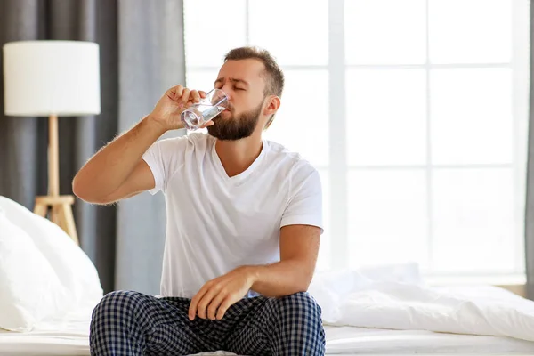
[[[239,117],[215,117],[214,125],[207,126],[208,134],[223,141],[237,141],[254,133],[258,125],[263,103],[257,109],[244,112]]]

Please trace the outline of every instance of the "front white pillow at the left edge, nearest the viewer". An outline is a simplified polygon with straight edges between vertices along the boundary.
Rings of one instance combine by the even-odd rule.
[[[71,303],[50,263],[0,208],[0,328],[31,330]]]

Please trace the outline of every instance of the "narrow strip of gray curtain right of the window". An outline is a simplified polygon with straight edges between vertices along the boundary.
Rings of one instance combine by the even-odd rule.
[[[530,2],[530,43],[534,38],[534,4]],[[530,45],[530,119],[525,211],[525,261],[527,297],[534,300],[534,45]]]

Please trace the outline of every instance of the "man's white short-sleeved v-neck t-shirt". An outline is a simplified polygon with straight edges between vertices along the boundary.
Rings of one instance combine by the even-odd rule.
[[[156,182],[150,193],[166,197],[163,296],[191,298],[240,265],[279,262],[282,226],[322,232],[320,175],[310,163],[263,140],[254,163],[229,177],[215,142],[192,133],[155,142],[142,157]]]

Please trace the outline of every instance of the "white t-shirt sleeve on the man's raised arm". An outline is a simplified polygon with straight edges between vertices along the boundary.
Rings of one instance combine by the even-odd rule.
[[[142,159],[149,165],[154,182],[156,182],[155,187],[149,190],[150,194],[154,195],[159,190],[166,191],[167,182],[182,164],[183,150],[180,146],[183,146],[182,143],[186,140],[185,137],[180,137],[154,142],[142,155]]]

